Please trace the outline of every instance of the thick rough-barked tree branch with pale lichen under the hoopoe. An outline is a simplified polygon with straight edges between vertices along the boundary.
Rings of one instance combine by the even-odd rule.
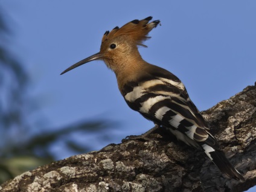
[[[245,182],[223,176],[200,151],[159,129],[27,171],[0,191],[244,191],[256,185],[256,86],[202,112]]]

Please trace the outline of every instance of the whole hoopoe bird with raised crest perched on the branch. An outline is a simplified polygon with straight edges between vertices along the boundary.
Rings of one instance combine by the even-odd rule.
[[[103,35],[100,52],[67,68],[61,74],[93,60],[103,60],[115,72],[118,88],[128,106],[143,117],[165,127],[178,140],[202,148],[229,178],[245,181],[228,161],[216,139],[209,132],[202,115],[188,97],[185,86],[171,72],[144,61],[138,46],[149,39],[148,33],[160,24],[152,17],[135,19]]]

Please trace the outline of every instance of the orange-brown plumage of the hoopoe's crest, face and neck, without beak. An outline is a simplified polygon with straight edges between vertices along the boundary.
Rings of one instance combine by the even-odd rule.
[[[146,63],[139,54],[138,45],[149,39],[149,32],[155,28],[160,21],[149,21],[152,17],[142,20],[135,19],[123,27],[115,27],[112,31],[106,31],[103,35],[100,53],[106,65],[117,75],[118,88],[122,89],[127,80],[136,80],[136,73],[144,68]],[[117,47],[110,48],[115,44]],[[143,46],[143,45],[142,45]]]

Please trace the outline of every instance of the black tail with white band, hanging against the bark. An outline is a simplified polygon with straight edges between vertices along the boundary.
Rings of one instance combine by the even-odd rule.
[[[213,149],[208,144],[202,145],[206,155],[214,162],[214,164],[222,171],[223,174],[229,178],[234,178],[240,181],[245,181],[242,174],[240,174],[228,161],[222,150]]]

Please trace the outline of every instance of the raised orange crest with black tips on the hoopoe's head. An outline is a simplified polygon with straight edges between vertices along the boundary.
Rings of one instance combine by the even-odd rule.
[[[106,31],[103,35],[102,42],[108,39],[114,39],[117,36],[127,36],[127,38],[133,40],[137,45],[142,45],[144,40],[149,39],[150,37],[147,34],[158,24],[160,24],[159,20],[149,21],[152,17],[147,17],[142,20],[135,19],[133,21],[128,22],[123,25],[123,27],[115,27],[112,31]]]

